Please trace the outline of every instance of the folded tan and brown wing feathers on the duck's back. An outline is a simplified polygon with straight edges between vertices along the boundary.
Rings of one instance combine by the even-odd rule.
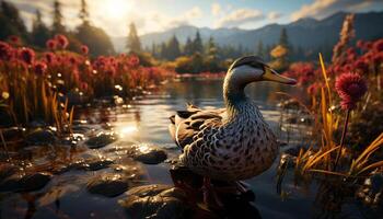
[[[169,130],[175,143],[183,149],[204,128],[220,126],[224,113],[224,108],[201,110],[189,104],[186,111],[177,111],[176,115],[170,117]]]

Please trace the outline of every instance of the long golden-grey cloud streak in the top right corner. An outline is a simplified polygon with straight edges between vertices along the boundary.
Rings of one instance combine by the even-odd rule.
[[[383,7],[382,0],[314,0],[311,4],[304,4],[298,11],[291,14],[291,20],[297,21],[302,18],[311,16],[324,19],[337,11],[362,12],[375,7]]]

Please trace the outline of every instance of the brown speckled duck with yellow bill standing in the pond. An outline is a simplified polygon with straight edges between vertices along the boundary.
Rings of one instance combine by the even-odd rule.
[[[257,56],[241,57],[224,77],[223,108],[202,110],[188,104],[170,117],[170,134],[182,149],[179,163],[202,176],[205,188],[211,187],[211,180],[234,182],[259,175],[279,154],[276,135],[244,91],[259,81],[297,83]]]

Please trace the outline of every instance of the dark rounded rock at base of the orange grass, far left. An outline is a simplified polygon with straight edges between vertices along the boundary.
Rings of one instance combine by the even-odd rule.
[[[36,128],[26,135],[25,140],[33,146],[47,146],[56,142],[56,136],[51,130]]]

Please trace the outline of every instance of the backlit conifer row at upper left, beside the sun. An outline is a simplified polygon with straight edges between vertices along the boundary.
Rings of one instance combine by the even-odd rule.
[[[11,36],[20,37],[20,44],[28,44],[36,49],[46,47],[46,42],[56,34],[63,34],[69,39],[69,50],[81,51],[81,45],[88,45],[92,56],[114,54],[114,47],[108,35],[100,27],[90,22],[90,13],[85,0],[81,0],[79,19],[81,24],[73,31],[69,31],[63,24],[61,2],[53,2],[51,24],[47,25],[43,20],[39,10],[36,10],[32,24],[32,31],[28,32],[21,19],[18,8],[8,1],[0,3],[0,39],[8,41]]]

